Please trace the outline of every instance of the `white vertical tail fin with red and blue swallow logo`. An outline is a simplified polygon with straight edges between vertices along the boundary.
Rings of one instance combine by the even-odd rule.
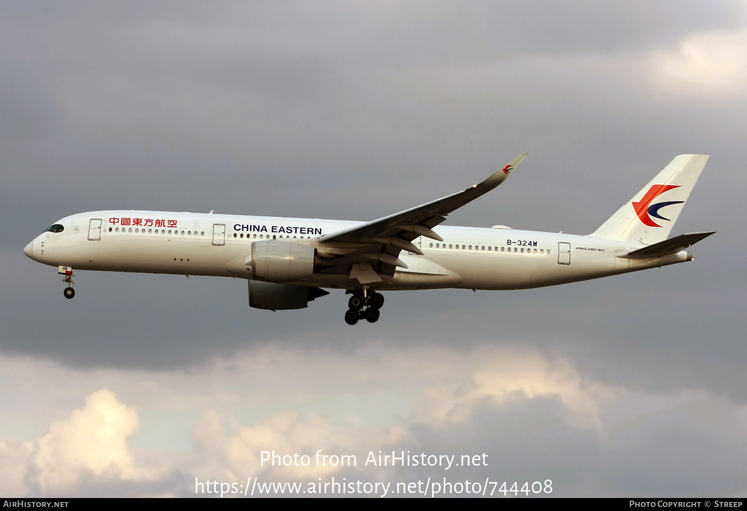
[[[708,155],[679,155],[591,234],[651,245],[666,240]]]

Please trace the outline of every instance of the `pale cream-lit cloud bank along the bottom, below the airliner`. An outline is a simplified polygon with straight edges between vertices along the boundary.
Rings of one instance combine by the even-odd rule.
[[[531,438],[537,435],[549,436],[558,448],[577,438],[594,446],[576,454],[586,486],[563,481],[565,495],[589,487],[598,495],[635,491],[624,477],[610,482],[600,472],[619,466],[624,473],[631,456],[645,459],[651,470],[669,471],[658,493],[680,495],[682,481],[693,478],[703,481],[702,487],[690,484],[687,495],[713,487],[736,492],[733,480],[745,475],[737,460],[747,454],[747,406],[696,389],[664,394],[611,385],[582,374],[564,357],[521,347],[483,344],[460,353],[369,343],[344,354],[275,345],[189,371],[78,371],[0,358],[0,371],[10,365],[34,385],[61,382],[46,394],[16,382],[28,396],[14,398],[14,421],[26,411],[34,423],[40,409],[68,418],[51,421],[36,439],[0,436],[5,495],[90,495],[99,487],[111,495],[125,489],[128,495],[190,495],[194,477],[243,483],[247,477],[314,480],[350,474],[329,466],[260,466],[261,451],[273,449],[281,456],[313,456],[317,449],[355,454],[358,465],[352,470],[380,480],[392,473],[363,468],[369,450],[479,448],[513,456],[512,449],[525,450],[522,442],[535,442]],[[86,390],[91,386],[99,390]],[[72,414],[56,404],[65,394],[82,393],[90,394],[86,404]],[[153,424],[140,421],[153,414],[158,428],[174,431],[185,416],[193,417],[190,439],[137,447],[143,437],[155,435]],[[661,439],[663,430],[677,434]],[[692,450],[693,445],[708,449]],[[681,453],[674,465],[673,450]],[[568,454],[561,449],[527,456],[522,462],[542,468]],[[695,463],[687,462],[690,456]],[[716,459],[722,471],[709,468]],[[503,462],[511,468],[518,459]],[[724,480],[732,486],[719,486]]]

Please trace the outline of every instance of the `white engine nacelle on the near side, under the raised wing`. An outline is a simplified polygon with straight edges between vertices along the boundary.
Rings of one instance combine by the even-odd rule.
[[[266,282],[311,279],[314,255],[316,250],[311,245],[282,240],[255,241],[252,243],[252,278]]]

